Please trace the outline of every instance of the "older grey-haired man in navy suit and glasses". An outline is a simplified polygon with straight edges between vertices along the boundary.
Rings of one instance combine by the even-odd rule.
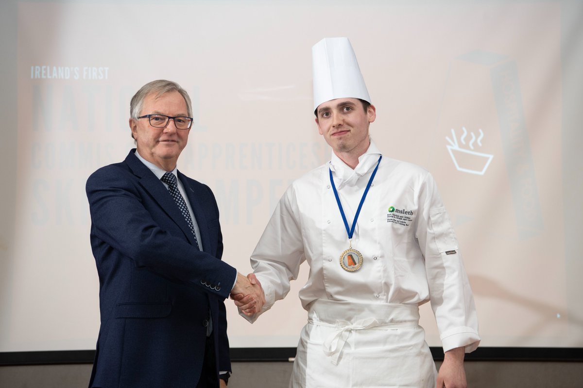
[[[223,301],[264,302],[260,284],[221,261],[212,191],[176,168],[191,124],[184,89],[146,84],[131,101],[137,149],[87,180],[101,311],[89,387],[224,387]]]

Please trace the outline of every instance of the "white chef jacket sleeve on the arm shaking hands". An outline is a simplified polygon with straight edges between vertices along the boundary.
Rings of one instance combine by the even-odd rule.
[[[290,281],[297,279],[300,264],[304,262],[296,195],[290,186],[279,201],[269,223],[251,255],[253,272],[265,292],[265,305],[257,314],[243,318],[253,323],[270,309],[275,301],[283,299],[290,290]]]

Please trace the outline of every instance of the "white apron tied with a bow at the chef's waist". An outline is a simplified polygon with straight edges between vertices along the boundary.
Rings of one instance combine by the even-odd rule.
[[[435,388],[419,308],[316,300],[301,331],[291,388]]]

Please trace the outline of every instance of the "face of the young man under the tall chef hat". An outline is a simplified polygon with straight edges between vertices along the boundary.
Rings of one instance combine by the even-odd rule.
[[[366,152],[368,125],[376,118],[373,105],[365,112],[359,99],[337,98],[318,105],[316,114],[319,133],[337,155],[358,157]]]

